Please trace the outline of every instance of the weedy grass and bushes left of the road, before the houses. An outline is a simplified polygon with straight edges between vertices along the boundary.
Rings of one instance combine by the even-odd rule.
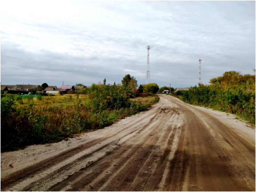
[[[122,83],[109,85],[104,79],[67,95],[1,94],[1,152],[100,129],[159,101],[157,95],[141,93],[130,75]]]

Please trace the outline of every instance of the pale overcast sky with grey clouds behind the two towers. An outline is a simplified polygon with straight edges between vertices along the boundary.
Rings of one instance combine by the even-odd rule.
[[[253,74],[255,1],[1,1],[1,83],[190,87]]]

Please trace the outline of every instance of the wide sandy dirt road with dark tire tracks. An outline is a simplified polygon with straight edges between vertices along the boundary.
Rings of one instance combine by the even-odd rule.
[[[160,95],[151,110],[1,154],[1,191],[255,191],[255,130]]]

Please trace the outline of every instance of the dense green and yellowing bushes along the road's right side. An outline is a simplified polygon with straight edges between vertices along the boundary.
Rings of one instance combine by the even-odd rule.
[[[190,104],[236,114],[255,125],[255,75],[225,72],[211,79],[210,85],[200,84],[176,96]]]

